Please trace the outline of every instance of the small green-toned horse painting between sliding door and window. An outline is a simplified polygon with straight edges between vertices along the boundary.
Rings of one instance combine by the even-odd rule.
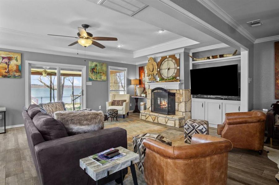
[[[89,61],[89,81],[107,81],[107,63]]]

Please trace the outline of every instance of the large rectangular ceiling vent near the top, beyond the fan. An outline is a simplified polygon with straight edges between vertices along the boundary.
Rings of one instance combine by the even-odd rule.
[[[98,4],[129,16],[133,16],[147,6],[137,0],[100,0]]]

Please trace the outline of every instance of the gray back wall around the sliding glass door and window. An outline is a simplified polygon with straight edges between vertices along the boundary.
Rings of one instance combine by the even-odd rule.
[[[8,50],[0,48],[1,51],[11,51],[21,53],[21,75],[20,79],[0,78],[0,107],[6,107],[6,125],[23,124],[21,112],[22,107],[25,106],[25,60],[52,62],[61,64],[76,64],[86,65],[86,80],[88,81],[88,61],[105,62],[108,66],[128,68],[128,82],[127,89],[129,94],[133,94],[133,85],[130,79],[135,79],[136,65],[123,64],[116,62],[100,61],[77,57],[68,57],[61,55],[50,55],[44,53],[35,53],[28,51]],[[108,72],[107,72],[108,75]],[[102,106],[102,111],[106,111],[106,101],[108,101],[108,81],[92,81],[92,85],[86,86],[86,106],[89,109],[99,110],[99,105]],[[130,110],[134,108],[134,101],[130,101],[133,105]]]

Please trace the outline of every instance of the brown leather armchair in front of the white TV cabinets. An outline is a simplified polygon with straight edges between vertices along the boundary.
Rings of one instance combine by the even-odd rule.
[[[233,148],[256,150],[262,154],[264,148],[264,125],[266,115],[251,111],[226,113],[223,124],[217,126],[217,134],[233,143]]]

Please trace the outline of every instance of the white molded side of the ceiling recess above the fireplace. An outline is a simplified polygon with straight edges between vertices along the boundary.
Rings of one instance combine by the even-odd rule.
[[[176,40],[172,40],[166,43],[161,43],[161,44],[157,44],[155,46],[151,46],[151,47],[146,47],[137,51],[134,51],[134,58],[140,57],[140,56],[154,56],[153,53],[159,53],[162,51],[168,51],[168,50],[172,50],[172,49],[176,49],[176,48],[181,48],[181,47],[186,47],[186,46],[190,46],[193,44],[198,44],[199,42],[196,42],[194,40],[188,39],[188,38],[181,38],[181,39],[176,39]],[[182,48],[184,49],[184,48]],[[150,55],[151,54],[151,55]]]

